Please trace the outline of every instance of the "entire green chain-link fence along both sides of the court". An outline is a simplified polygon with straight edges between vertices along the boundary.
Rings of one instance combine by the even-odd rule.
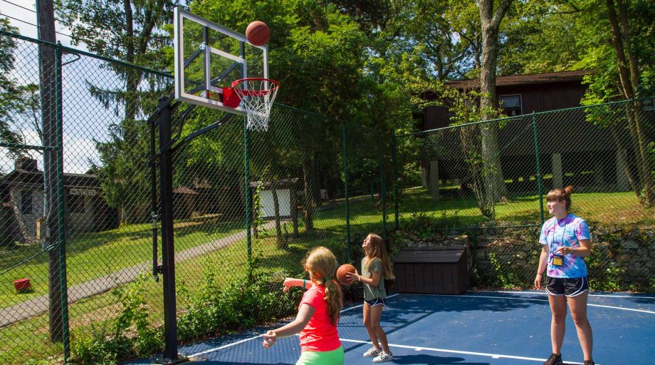
[[[357,263],[368,232],[466,232],[478,283],[529,285],[543,197],[565,185],[592,226],[597,288],[653,287],[649,101],[394,138],[278,105],[266,132],[249,132],[242,117],[180,105],[164,146],[150,117],[171,76],[12,34],[0,42],[4,363],[162,350],[154,277],[168,147],[180,344],[290,314],[300,292],[280,294],[281,282],[302,275],[305,253],[323,245]]]

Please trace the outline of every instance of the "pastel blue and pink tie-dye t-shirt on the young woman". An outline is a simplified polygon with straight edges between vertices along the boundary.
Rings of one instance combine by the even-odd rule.
[[[541,227],[539,243],[548,246],[548,267],[549,277],[586,277],[587,264],[585,259],[576,255],[562,255],[561,266],[552,265],[552,257],[555,251],[562,246],[580,247],[580,240],[590,240],[589,225],[577,215],[567,215],[565,219],[557,220],[552,217]]]

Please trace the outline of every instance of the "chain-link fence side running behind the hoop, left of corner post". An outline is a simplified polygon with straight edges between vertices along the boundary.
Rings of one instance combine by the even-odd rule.
[[[243,117],[179,105],[160,145],[172,76],[0,37],[13,57],[0,101],[3,363],[162,350],[166,148],[179,344],[290,314],[300,292],[281,294],[282,281],[302,277],[311,247],[355,262],[366,233],[384,234],[379,133],[279,105],[268,131],[251,132]]]

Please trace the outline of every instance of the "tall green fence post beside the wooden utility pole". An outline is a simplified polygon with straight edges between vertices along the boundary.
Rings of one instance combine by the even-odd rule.
[[[63,339],[63,361],[70,355],[70,338],[68,329],[68,290],[66,285],[66,210],[64,207],[65,190],[63,186],[63,86],[61,79],[61,43],[55,48],[56,78],[56,128],[57,128],[57,230],[59,243],[59,287],[61,289],[61,324]]]

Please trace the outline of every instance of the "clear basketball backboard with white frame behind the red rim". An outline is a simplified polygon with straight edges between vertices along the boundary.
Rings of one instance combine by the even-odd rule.
[[[268,78],[268,47],[245,35],[174,9],[175,98],[246,115],[243,105],[224,100],[224,88],[242,78]]]

